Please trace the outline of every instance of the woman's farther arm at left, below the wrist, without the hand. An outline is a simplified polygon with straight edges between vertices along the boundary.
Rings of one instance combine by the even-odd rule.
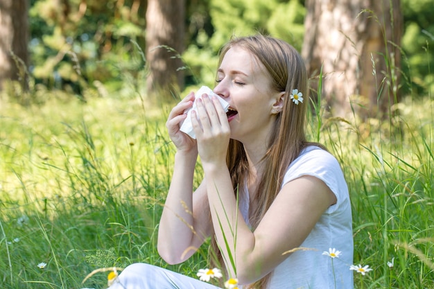
[[[162,217],[159,222],[157,249],[169,264],[189,259],[209,236],[209,207],[205,186],[193,193],[192,161],[175,155],[175,169]]]

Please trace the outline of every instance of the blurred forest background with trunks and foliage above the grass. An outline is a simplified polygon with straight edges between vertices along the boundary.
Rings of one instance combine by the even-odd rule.
[[[220,46],[257,31],[302,53],[313,95],[337,116],[389,114],[433,89],[431,0],[1,0],[0,13],[0,99],[22,104],[168,103],[212,87]]]

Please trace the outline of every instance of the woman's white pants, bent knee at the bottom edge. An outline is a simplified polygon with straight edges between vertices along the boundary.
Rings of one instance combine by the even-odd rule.
[[[146,263],[125,268],[109,289],[219,289],[199,279]]]

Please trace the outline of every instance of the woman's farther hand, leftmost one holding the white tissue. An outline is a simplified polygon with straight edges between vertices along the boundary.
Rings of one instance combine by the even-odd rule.
[[[180,131],[180,124],[186,119],[186,110],[193,106],[194,93],[191,92],[183,100],[180,101],[168,114],[166,121],[166,128],[168,135],[175,144],[178,151],[191,152],[193,149],[197,149],[196,140],[191,139],[188,134]]]

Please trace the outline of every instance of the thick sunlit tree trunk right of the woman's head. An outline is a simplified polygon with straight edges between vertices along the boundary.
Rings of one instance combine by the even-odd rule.
[[[306,0],[302,55],[315,98],[335,116],[387,116],[399,101],[399,0]]]

